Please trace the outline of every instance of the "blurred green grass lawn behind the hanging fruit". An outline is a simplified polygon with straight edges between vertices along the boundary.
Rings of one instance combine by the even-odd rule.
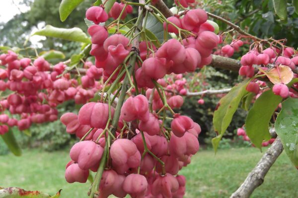
[[[64,178],[68,151],[25,150],[21,157],[0,156],[0,186],[39,190],[51,195],[63,189],[62,198],[84,198],[90,183],[68,184]],[[258,162],[256,148],[198,152],[181,174],[187,177],[186,198],[227,198]],[[252,198],[297,198],[298,172],[283,153]]]

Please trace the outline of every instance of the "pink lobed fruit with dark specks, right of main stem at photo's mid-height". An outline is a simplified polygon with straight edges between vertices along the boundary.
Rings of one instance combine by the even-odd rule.
[[[149,120],[149,103],[144,95],[129,97],[121,108],[122,118],[129,122],[135,119],[142,121]],[[98,127],[100,128],[100,127]]]

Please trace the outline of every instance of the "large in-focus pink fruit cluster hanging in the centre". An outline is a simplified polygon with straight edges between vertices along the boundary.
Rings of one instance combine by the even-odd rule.
[[[120,12],[118,6],[119,3],[114,4],[109,14],[102,6],[86,11],[86,18],[94,22],[88,33],[95,67],[102,69],[104,79],[114,83],[127,75],[125,67],[132,66],[127,58],[132,40],[118,33],[109,36],[107,28],[100,24],[109,17],[124,19],[121,13],[129,13],[128,6],[120,6]],[[116,197],[129,194],[134,198],[183,197],[186,181],[178,171],[199,150],[201,128],[173,109],[182,106],[180,95],[186,95],[182,74],[210,63],[211,53],[220,43],[214,28],[206,21],[204,10],[189,10],[181,19],[169,17],[164,23],[168,32],[180,36],[183,30],[189,37],[169,39],[158,49],[147,40],[139,42],[140,59],[134,65],[133,77],[130,76],[135,87],[130,89],[119,114],[109,100],[101,99],[84,104],[78,115],[66,113],[61,117],[67,132],[81,139],[70,151],[72,160],[65,174],[68,182],[86,182],[89,171],[99,170],[105,160],[98,189],[101,197],[112,194]],[[171,73],[176,75],[163,79]],[[119,92],[115,94],[118,96]],[[172,117],[167,116],[167,110]],[[115,116],[119,116],[119,121],[111,128],[111,121],[118,120]],[[108,154],[104,155],[106,148]]]

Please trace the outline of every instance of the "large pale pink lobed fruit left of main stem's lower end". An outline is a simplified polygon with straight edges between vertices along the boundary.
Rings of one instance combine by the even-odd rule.
[[[99,165],[103,148],[93,141],[81,141],[76,143],[71,151],[72,160],[77,162],[79,168],[87,170]]]

